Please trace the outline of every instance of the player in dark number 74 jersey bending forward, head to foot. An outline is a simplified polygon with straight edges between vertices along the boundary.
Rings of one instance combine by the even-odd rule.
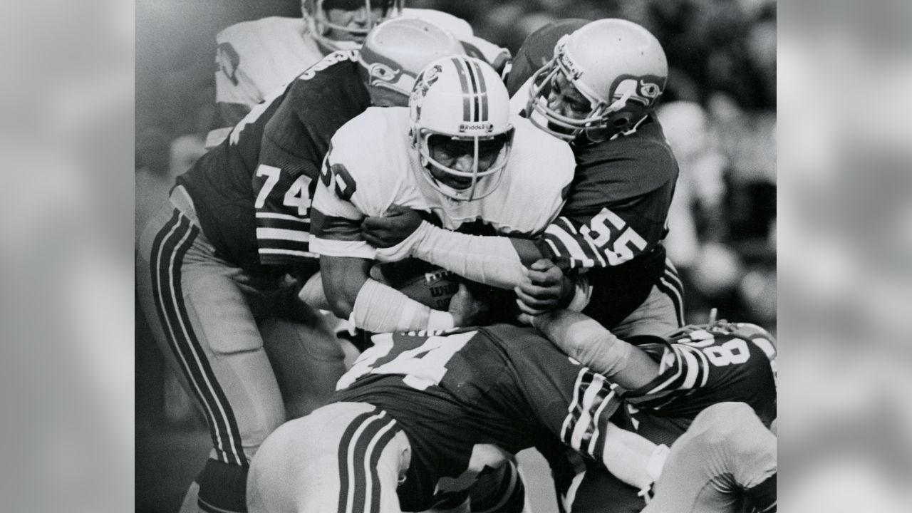
[[[316,271],[307,232],[320,163],[338,127],[372,101],[405,105],[420,69],[451,53],[463,53],[458,41],[429,22],[377,26],[360,52],[329,54],[257,105],[146,226],[140,303],[212,434],[185,510],[245,511],[249,458],[287,417],[326,403],[345,372],[337,339],[288,277]]]

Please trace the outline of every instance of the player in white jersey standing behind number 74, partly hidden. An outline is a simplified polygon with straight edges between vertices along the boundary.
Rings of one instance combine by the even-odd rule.
[[[466,53],[503,70],[510,51],[475,37],[464,20],[404,0],[302,0],[302,17],[271,16],[225,28],[216,37],[215,102],[206,149],[223,141],[254,105],[327,54],[357,49],[371,27],[397,16],[430,21],[461,41]]]

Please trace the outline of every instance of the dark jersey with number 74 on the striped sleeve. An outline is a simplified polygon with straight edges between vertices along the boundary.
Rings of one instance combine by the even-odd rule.
[[[316,266],[308,236],[320,164],[337,129],[370,105],[357,60],[326,56],[178,177],[217,256],[254,272]]]

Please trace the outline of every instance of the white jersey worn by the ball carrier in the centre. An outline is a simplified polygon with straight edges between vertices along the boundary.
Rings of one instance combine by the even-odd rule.
[[[471,202],[441,194],[411,148],[409,110],[372,107],[332,139],[311,212],[310,250],[333,257],[374,258],[359,235],[366,216],[384,215],[393,204],[430,212],[444,228],[482,222],[504,236],[536,236],[564,204],[574,176],[570,146],[520,117],[510,159],[496,189]]]

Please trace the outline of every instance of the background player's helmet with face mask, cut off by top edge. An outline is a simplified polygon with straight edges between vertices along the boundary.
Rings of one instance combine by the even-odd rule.
[[[337,50],[358,49],[371,28],[386,19],[400,16],[404,4],[404,0],[301,0],[301,15],[316,43],[328,54]],[[367,17],[364,27],[352,28],[333,23],[326,16],[326,11],[330,9],[363,10],[363,16]],[[376,9],[379,9],[379,16],[374,13]],[[355,40],[333,38],[333,32],[346,33]]]

